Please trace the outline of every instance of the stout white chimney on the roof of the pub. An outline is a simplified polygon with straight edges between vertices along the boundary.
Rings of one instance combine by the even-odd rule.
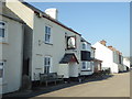
[[[45,13],[48,14],[51,18],[57,20],[58,11],[57,11],[56,8],[46,9],[46,10],[45,10]]]

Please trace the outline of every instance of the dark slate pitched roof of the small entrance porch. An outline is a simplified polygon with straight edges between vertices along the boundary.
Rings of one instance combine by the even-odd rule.
[[[77,59],[77,57],[75,56],[74,53],[65,54],[59,63],[61,64],[67,64],[67,63],[69,63],[72,61],[73,56],[76,59],[76,62],[79,64],[79,62],[78,62],[78,59]]]

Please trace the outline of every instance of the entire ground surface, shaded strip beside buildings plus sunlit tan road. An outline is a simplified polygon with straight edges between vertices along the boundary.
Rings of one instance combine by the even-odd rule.
[[[20,90],[3,95],[4,98],[40,97],[130,97],[130,73],[121,73],[70,84],[51,84],[48,87],[36,86],[31,90]]]

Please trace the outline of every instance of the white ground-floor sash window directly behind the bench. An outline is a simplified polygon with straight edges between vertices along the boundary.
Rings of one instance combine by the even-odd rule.
[[[45,63],[45,59],[48,58],[50,59],[50,64],[47,64],[48,62],[46,61]],[[52,57],[51,56],[45,56],[44,57],[44,74],[48,74],[48,73],[52,73]]]

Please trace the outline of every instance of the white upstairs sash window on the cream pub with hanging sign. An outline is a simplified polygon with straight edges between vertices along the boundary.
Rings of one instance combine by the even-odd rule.
[[[48,25],[45,25],[45,37],[44,37],[44,41],[45,43],[47,44],[51,44],[52,43],[52,28],[48,26]]]

